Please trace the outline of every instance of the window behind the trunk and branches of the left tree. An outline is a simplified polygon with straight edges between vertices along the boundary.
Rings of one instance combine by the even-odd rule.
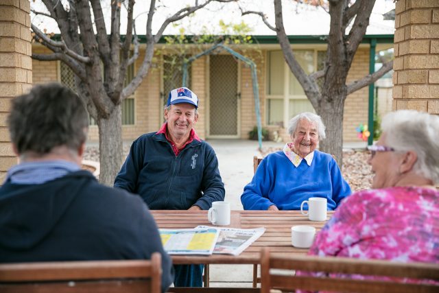
[[[126,79],[123,86],[127,86],[128,83],[134,78],[134,65],[130,65],[126,71]],[[60,82],[69,87],[75,93],[75,73],[64,62],[60,62]],[[128,97],[122,101],[122,125],[134,125],[134,97]],[[90,117],[90,125],[97,125],[95,119]]]

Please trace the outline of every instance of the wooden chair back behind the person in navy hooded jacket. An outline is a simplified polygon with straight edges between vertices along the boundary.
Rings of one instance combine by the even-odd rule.
[[[151,260],[0,264],[2,293],[161,292],[161,255]]]

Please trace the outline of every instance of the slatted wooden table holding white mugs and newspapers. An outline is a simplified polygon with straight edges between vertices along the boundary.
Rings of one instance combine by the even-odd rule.
[[[195,228],[213,226],[207,220],[207,211],[151,211],[159,228]],[[328,212],[328,217],[333,211]],[[318,231],[325,222],[308,220],[300,211],[232,211],[229,228],[264,227],[265,233],[240,255],[172,255],[174,264],[239,263],[259,264],[262,247],[269,247],[272,254],[305,255],[307,248],[295,248],[291,244],[291,227],[310,225]],[[209,272],[207,272],[209,274]],[[171,288],[174,290],[174,288]],[[244,288],[241,288],[244,289]],[[180,292],[180,290],[178,290]]]

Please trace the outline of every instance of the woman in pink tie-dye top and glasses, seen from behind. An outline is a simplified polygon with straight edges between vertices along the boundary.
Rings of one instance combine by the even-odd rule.
[[[309,254],[439,263],[439,117],[399,110],[381,129],[372,189],[342,202]]]

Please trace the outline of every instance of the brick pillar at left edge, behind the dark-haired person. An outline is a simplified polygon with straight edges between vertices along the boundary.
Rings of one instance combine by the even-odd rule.
[[[29,0],[0,0],[0,184],[16,164],[6,118],[10,101],[32,86]]]

